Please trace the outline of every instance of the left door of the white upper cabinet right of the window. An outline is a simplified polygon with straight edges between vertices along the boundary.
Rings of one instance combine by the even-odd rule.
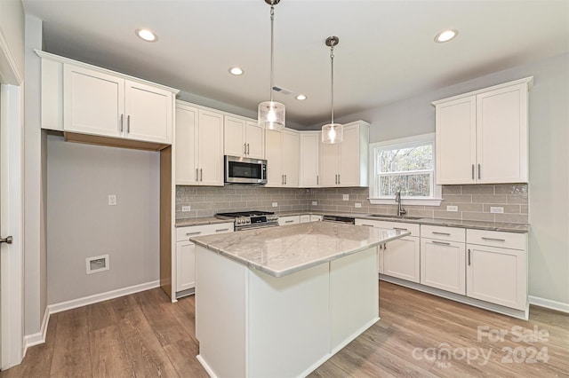
[[[459,98],[436,108],[437,184],[476,182],[476,97]]]

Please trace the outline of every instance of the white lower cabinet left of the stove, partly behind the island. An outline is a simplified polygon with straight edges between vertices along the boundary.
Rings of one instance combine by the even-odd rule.
[[[176,229],[177,297],[184,295],[180,292],[196,287],[196,244],[189,238],[225,232],[233,232],[233,223],[191,225]]]

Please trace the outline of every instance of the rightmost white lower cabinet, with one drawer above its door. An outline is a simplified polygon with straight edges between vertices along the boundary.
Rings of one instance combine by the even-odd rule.
[[[467,295],[524,311],[527,306],[526,243],[525,233],[468,230]]]

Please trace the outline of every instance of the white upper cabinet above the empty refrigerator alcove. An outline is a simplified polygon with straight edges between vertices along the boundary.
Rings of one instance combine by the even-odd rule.
[[[161,149],[172,144],[177,90],[36,53],[42,58],[43,129],[64,131],[68,140],[108,146]]]

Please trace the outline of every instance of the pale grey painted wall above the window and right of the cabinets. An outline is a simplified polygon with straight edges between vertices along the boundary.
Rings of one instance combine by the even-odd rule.
[[[569,305],[569,55],[479,77],[369,109],[338,122],[370,122],[370,143],[435,131],[430,103],[468,91],[534,77],[530,91],[530,295]],[[317,126],[317,125],[315,125]]]

